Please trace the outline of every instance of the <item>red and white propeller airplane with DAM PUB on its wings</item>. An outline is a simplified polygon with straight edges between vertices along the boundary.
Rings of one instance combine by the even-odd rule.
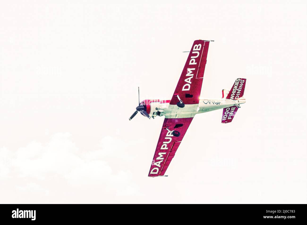
[[[194,41],[171,100],[146,99],[140,102],[138,89],[138,106],[129,120],[138,112],[149,119],[165,116],[149,177],[167,177],[165,171],[196,114],[223,109],[221,122],[230,123],[240,105],[246,102],[243,97],[245,78],[237,78],[230,91],[223,89],[221,99],[200,99],[211,41]]]

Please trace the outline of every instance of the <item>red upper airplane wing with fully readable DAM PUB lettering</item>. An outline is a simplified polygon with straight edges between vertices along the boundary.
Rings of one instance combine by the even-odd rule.
[[[210,41],[196,40],[193,43],[185,67],[175,89],[170,105],[176,105],[177,95],[187,104],[198,104]]]

